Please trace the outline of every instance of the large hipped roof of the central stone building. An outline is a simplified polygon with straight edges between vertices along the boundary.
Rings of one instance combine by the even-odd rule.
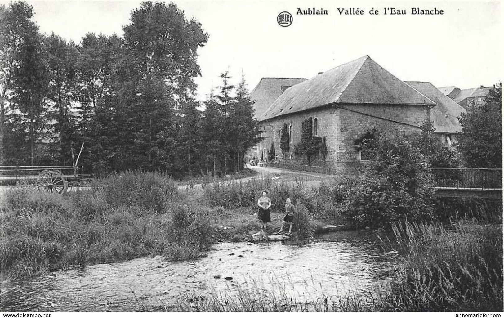
[[[288,88],[258,119],[331,103],[434,106],[366,55]]]

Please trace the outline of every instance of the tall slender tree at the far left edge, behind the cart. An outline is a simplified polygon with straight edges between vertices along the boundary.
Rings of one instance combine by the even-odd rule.
[[[28,147],[20,149],[27,156],[19,163],[36,162],[36,142],[44,131],[47,66],[42,35],[32,18],[33,9],[24,2],[0,6],[0,164],[22,160],[5,151],[16,146]],[[14,132],[28,140],[13,144],[18,139]]]

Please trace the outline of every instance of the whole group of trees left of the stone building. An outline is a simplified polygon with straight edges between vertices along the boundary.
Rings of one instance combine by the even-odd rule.
[[[196,101],[197,51],[208,40],[197,20],[143,2],[122,36],[87,33],[75,44],[40,34],[32,11],[0,6],[0,163],[70,165],[84,144],[79,166],[95,175],[243,169],[260,140],[253,101],[244,78],[235,87],[227,72],[217,94]]]

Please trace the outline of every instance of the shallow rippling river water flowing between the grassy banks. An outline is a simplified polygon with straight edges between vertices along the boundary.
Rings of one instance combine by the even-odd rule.
[[[159,310],[180,295],[232,294],[238,287],[282,289],[300,301],[360,295],[386,285],[377,278],[390,266],[381,255],[375,235],[362,232],[305,242],[221,243],[197,260],[144,257],[3,281],[0,311]]]

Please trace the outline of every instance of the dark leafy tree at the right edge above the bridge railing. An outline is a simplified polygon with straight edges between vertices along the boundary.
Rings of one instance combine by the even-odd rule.
[[[484,104],[474,104],[459,117],[459,150],[469,167],[502,167],[502,83],[490,89]]]

